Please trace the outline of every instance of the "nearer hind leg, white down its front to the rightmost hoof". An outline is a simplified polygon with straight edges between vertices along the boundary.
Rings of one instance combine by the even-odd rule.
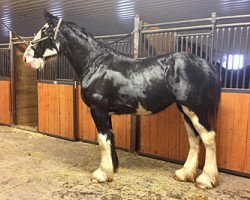
[[[207,130],[207,128],[200,123],[199,118],[193,111],[185,106],[182,106],[182,110],[192,121],[193,126],[199,133],[206,148],[205,165],[202,174],[196,179],[196,185],[200,188],[212,188],[218,183],[215,132],[213,130]]]

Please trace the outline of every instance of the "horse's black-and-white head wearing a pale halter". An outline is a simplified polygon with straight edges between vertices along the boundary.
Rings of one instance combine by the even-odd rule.
[[[44,67],[46,58],[64,51],[64,38],[60,33],[64,22],[46,10],[44,16],[47,23],[38,31],[23,55],[25,63],[35,69]]]

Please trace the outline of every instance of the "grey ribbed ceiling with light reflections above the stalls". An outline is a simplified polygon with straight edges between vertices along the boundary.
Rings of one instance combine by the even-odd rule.
[[[23,36],[31,36],[45,23],[43,10],[73,21],[94,35],[129,33],[139,14],[149,23],[250,14],[250,0],[0,0],[0,18]],[[8,31],[0,24],[0,43]]]

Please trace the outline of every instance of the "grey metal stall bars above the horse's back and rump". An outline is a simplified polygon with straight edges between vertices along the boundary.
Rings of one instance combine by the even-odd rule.
[[[235,21],[236,19],[244,19],[248,20],[249,22],[231,23],[232,20]],[[249,93],[250,73],[247,71],[249,74],[246,74],[246,68],[249,68],[250,70],[250,63],[246,63],[244,68],[240,70],[239,63],[235,64],[234,61],[232,61],[236,67],[238,66],[238,69],[231,70],[229,69],[228,63],[230,60],[228,57],[232,54],[232,59],[234,60],[234,55],[242,53],[247,53],[244,56],[245,59],[250,57],[250,14],[218,17],[216,13],[212,13],[210,18],[155,24],[146,24],[145,22],[141,22],[141,24],[140,57],[143,57],[143,55],[146,54],[148,54],[147,56],[155,56],[157,55],[159,48],[161,48],[160,54],[162,54],[162,51],[166,51],[167,47],[164,49],[162,44],[160,44],[159,47],[159,40],[161,40],[162,43],[166,43],[166,37],[171,37],[169,34],[174,34],[175,47],[169,46],[169,50],[172,48],[173,52],[183,51],[187,50],[188,46],[189,48],[191,46],[192,53],[202,56],[205,59],[208,59],[210,62],[219,65],[223,89],[226,88],[226,91],[235,91],[239,89],[241,92]],[[152,30],[152,28],[156,28],[156,30]],[[162,34],[165,39],[160,38],[162,37]],[[142,41],[145,42],[147,39],[149,40],[148,44],[143,44]],[[246,42],[244,43],[244,41]],[[149,45],[151,46],[149,47]],[[169,45],[171,45],[170,42]],[[193,45],[195,49],[192,49]],[[147,53],[145,52],[146,49],[148,51]],[[203,52],[205,52],[204,55]],[[223,55],[226,55],[225,61],[220,58]],[[222,67],[223,62],[226,63],[225,69]],[[247,64],[249,64],[249,66]],[[222,72],[224,74],[222,74]]]

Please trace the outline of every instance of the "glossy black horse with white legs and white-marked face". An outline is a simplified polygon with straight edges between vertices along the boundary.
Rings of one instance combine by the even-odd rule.
[[[119,161],[112,131],[112,114],[150,115],[175,103],[183,117],[190,144],[184,166],[175,172],[179,181],[200,188],[218,183],[215,131],[220,100],[216,68],[190,53],[171,53],[132,59],[97,41],[87,30],[45,10],[46,24],[28,45],[23,59],[41,68],[48,58],[65,55],[81,83],[81,97],[90,108],[98,130],[101,161],[94,183],[112,181]],[[206,148],[203,172],[198,176],[200,142]]]

